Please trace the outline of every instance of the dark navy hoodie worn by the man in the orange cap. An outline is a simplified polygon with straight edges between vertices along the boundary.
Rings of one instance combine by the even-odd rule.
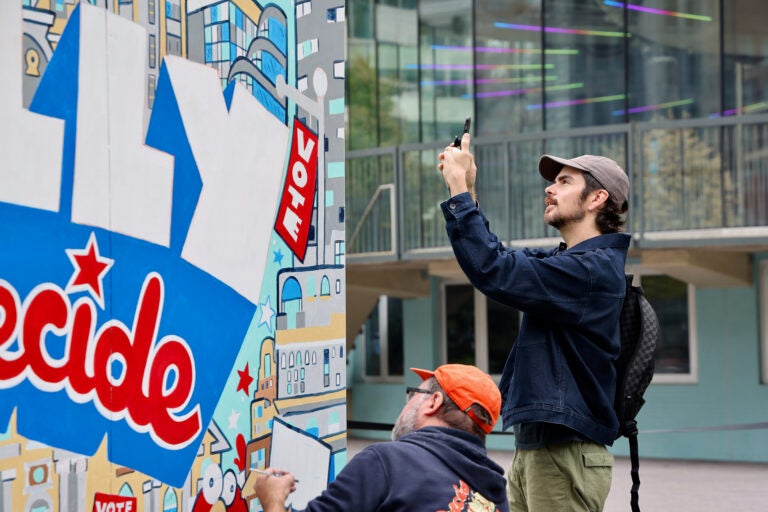
[[[508,512],[505,485],[478,437],[425,427],[365,448],[306,510]]]

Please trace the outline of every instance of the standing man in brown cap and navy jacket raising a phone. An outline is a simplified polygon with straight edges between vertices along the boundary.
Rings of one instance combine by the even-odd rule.
[[[611,487],[619,315],[630,236],[620,231],[629,180],[613,160],[544,155],[544,221],[563,238],[515,250],[489,230],[475,198],[477,167],[461,146],[440,153],[450,199],[441,204],[456,259],[470,282],[523,312],[504,367],[503,428],[514,429],[510,510],[601,511]]]

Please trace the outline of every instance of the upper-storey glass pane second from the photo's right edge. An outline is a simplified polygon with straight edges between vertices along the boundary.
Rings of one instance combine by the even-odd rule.
[[[619,2],[612,9],[622,12]],[[629,119],[708,117],[720,110],[717,0],[627,4]],[[610,9],[610,8],[606,8]]]

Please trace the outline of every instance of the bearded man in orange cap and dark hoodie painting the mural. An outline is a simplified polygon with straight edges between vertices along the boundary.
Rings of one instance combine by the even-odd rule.
[[[446,364],[411,368],[422,378],[406,388],[391,442],[353,457],[307,511],[455,510],[508,512],[504,470],[488,458],[485,436],[501,412],[501,395],[480,369]],[[268,469],[255,489],[266,512],[285,511],[292,474]]]

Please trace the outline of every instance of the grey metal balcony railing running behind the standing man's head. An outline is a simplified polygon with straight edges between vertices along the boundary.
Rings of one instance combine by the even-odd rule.
[[[768,115],[637,123],[473,139],[476,192],[491,229],[512,245],[557,239],[544,224],[543,153],[610,156],[629,172],[638,248],[768,244]],[[347,256],[451,254],[439,204],[444,143],[347,154]]]

